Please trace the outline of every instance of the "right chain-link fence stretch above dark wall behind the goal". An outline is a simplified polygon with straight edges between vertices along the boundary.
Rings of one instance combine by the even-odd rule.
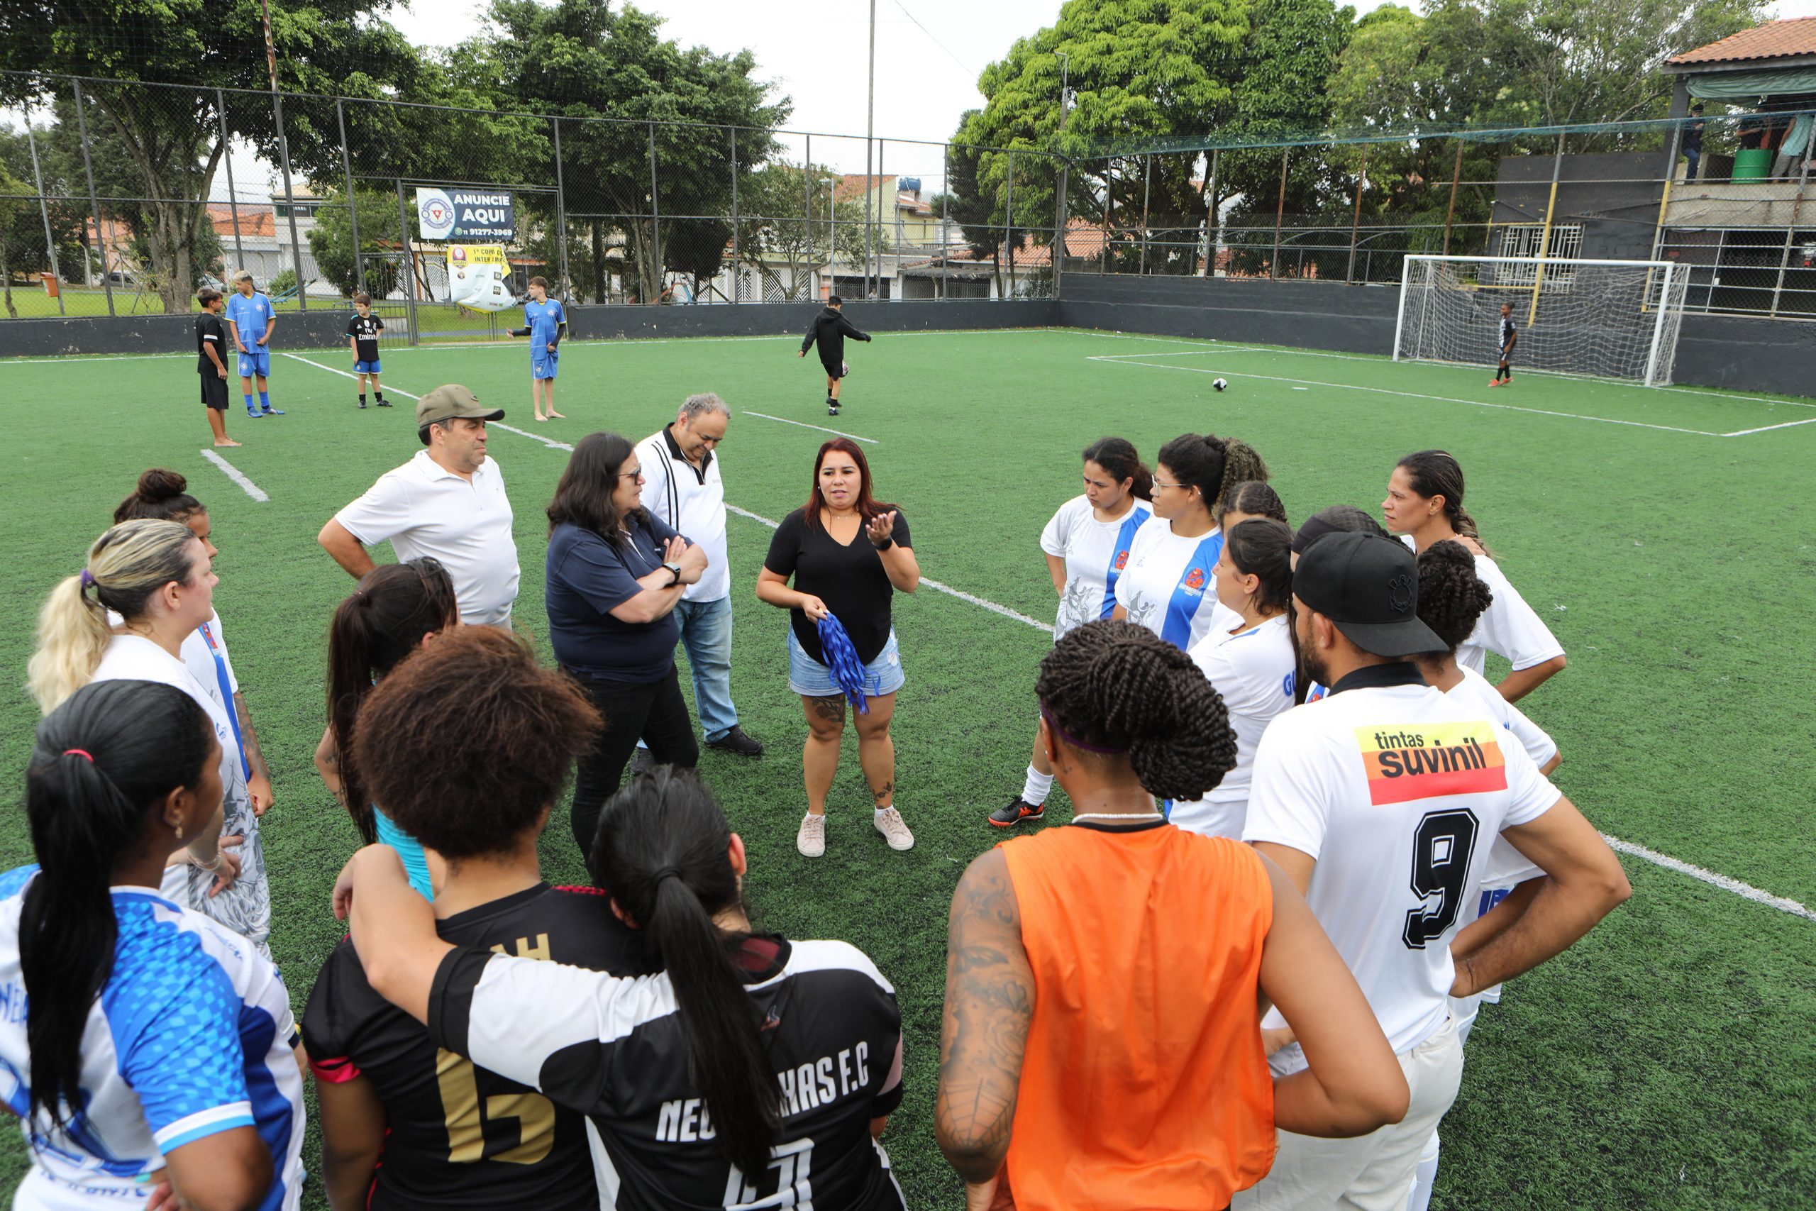
[[[1398,283],[1409,252],[1667,260],[1685,310],[1816,314],[1816,114],[1171,145],[1071,165],[1071,272]]]

